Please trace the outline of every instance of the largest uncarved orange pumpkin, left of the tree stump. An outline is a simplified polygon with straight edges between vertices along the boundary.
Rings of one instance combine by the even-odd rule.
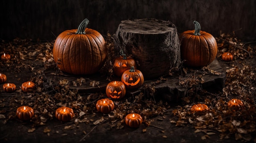
[[[65,30],[56,38],[53,57],[61,71],[70,74],[94,74],[101,69],[107,48],[102,35],[86,28],[85,19],[78,29]]]

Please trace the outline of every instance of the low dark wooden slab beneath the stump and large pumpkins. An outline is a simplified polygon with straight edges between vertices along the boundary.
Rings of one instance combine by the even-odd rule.
[[[150,93],[152,93],[150,88],[153,88],[153,90],[155,90],[154,95],[157,95],[158,93],[166,94],[167,98],[170,98],[167,100],[171,100],[171,98],[181,98],[186,96],[186,91],[188,88],[179,85],[179,81],[186,81],[187,79],[189,79],[189,77],[192,76],[201,76],[199,80],[201,80],[202,78],[204,81],[202,83],[199,81],[199,85],[201,85],[202,88],[210,88],[213,90],[221,91],[225,85],[225,72],[222,70],[219,62],[216,59],[209,65],[209,69],[211,69],[211,71],[188,68],[186,74],[181,74],[180,72],[180,74],[177,73],[173,76],[166,76],[161,83],[157,82],[159,78],[155,80],[145,80],[143,87],[140,87],[136,90],[127,90],[126,96],[135,96],[138,95],[140,92],[145,93],[145,95],[150,95]],[[220,75],[212,74],[211,72],[216,72]],[[79,93],[96,93],[100,91],[105,93],[106,86],[109,83],[109,81],[106,80],[106,77],[101,77],[99,74],[94,74],[90,76],[74,76],[70,74],[64,74],[60,76],[54,73],[55,71],[45,71],[44,87],[48,91],[52,90],[53,87],[58,85],[60,80],[63,79],[67,79],[69,81],[70,89],[78,89]],[[81,86],[77,82],[77,79],[80,78],[85,79],[85,82],[83,82]],[[90,82],[93,80],[99,82],[99,85],[96,87],[90,86]],[[121,81],[121,79],[117,77],[113,77],[113,80]],[[76,87],[73,86],[73,82],[77,83]]]

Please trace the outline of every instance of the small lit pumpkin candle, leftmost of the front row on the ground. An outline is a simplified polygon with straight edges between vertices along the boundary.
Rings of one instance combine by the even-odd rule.
[[[16,115],[20,120],[29,120],[34,116],[34,110],[29,106],[17,108]]]

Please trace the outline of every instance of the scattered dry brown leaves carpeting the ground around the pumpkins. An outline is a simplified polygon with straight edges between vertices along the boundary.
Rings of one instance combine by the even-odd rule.
[[[101,69],[105,73],[106,79],[111,80],[113,76],[112,59],[114,55],[114,45],[111,35],[105,37],[108,47],[108,59]],[[218,42],[217,59],[223,52],[232,52],[235,60],[246,60],[255,58],[256,47],[250,43],[240,42],[234,35],[222,34],[216,38]],[[95,104],[97,100],[106,98],[105,93],[79,93],[76,89],[70,89],[70,85],[78,86],[90,82],[90,86],[99,86],[99,81],[93,81],[85,78],[78,78],[76,81],[60,80],[59,84],[54,86],[51,91],[46,91],[43,86],[44,73],[47,69],[55,69],[56,75],[63,74],[56,68],[52,56],[54,41],[32,41],[30,39],[14,39],[10,42],[0,44],[0,54],[9,53],[13,57],[8,62],[0,62],[0,68],[4,71],[13,71],[15,73],[28,70],[31,72],[31,81],[37,85],[34,93],[23,93],[17,90],[16,93],[5,95],[0,100],[0,117],[4,119],[4,124],[16,118],[16,108],[20,105],[28,105],[35,109],[35,116],[32,118],[34,125],[29,132],[33,132],[36,126],[42,126],[47,120],[52,120],[55,111],[60,106],[69,106],[74,109],[74,124],[89,124],[93,122],[97,125],[103,121],[109,120],[112,128],[121,129],[124,127],[124,117],[128,113],[139,113],[147,126],[150,126],[151,118],[161,115],[165,117],[166,113],[171,113],[170,124],[175,126],[190,125],[195,128],[195,132],[204,132],[202,139],[207,139],[211,134],[220,134],[220,139],[235,137],[237,140],[250,141],[255,136],[256,130],[256,65],[239,64],[231,65],[226,71],[226,83],[222,92],[210,93],[200,87],[202,78],[191,77],[186,80],[180,80],[180,86],[188,90],[188,95],[183,98],[184,102],[180,106],[171,107],[168,102],[161,99],[145,98],[144,93],[135,97],[115,101],[115,110],[108,114],[108,117],[96,118]],[[28,61],[33,60],[29,64]],[[38,62],[36,62],[38,61]],[[217,74],[207,67],[203,67],[207,74]],[[185,72],[185,71],[184,71]],[[184,73],[183,74],[186,74]],[[205,74],[205,73],[202,73]],[[164,82],[164,78],[155,83]],[[148,85],[154,95],[154,85]],[[145,87],[146,88],[146,87]],[[1,94],[4,94],[2,90]],[[232,98],[238,98],[243,101],[244,107],[234,111],[227,106],[227,102]],[[191,100],[193,99],[193,100]],[[193,102],[192,102],[193,101]],[[196,103],[203,103],[209,106],[209,112],[206,115],[195,115],[190,112],[191,106]],[[85,115],[91,115],[88,118]],[[146,131],[146,130],[145,130]],[[47,132],[47,131],[46,131]]]

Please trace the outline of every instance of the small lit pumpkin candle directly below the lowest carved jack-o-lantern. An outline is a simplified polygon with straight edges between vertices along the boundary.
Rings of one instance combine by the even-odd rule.
[[[97,111],[107,114],[114,110],[114,102],[108,98],[98,100],[96,103]]]

